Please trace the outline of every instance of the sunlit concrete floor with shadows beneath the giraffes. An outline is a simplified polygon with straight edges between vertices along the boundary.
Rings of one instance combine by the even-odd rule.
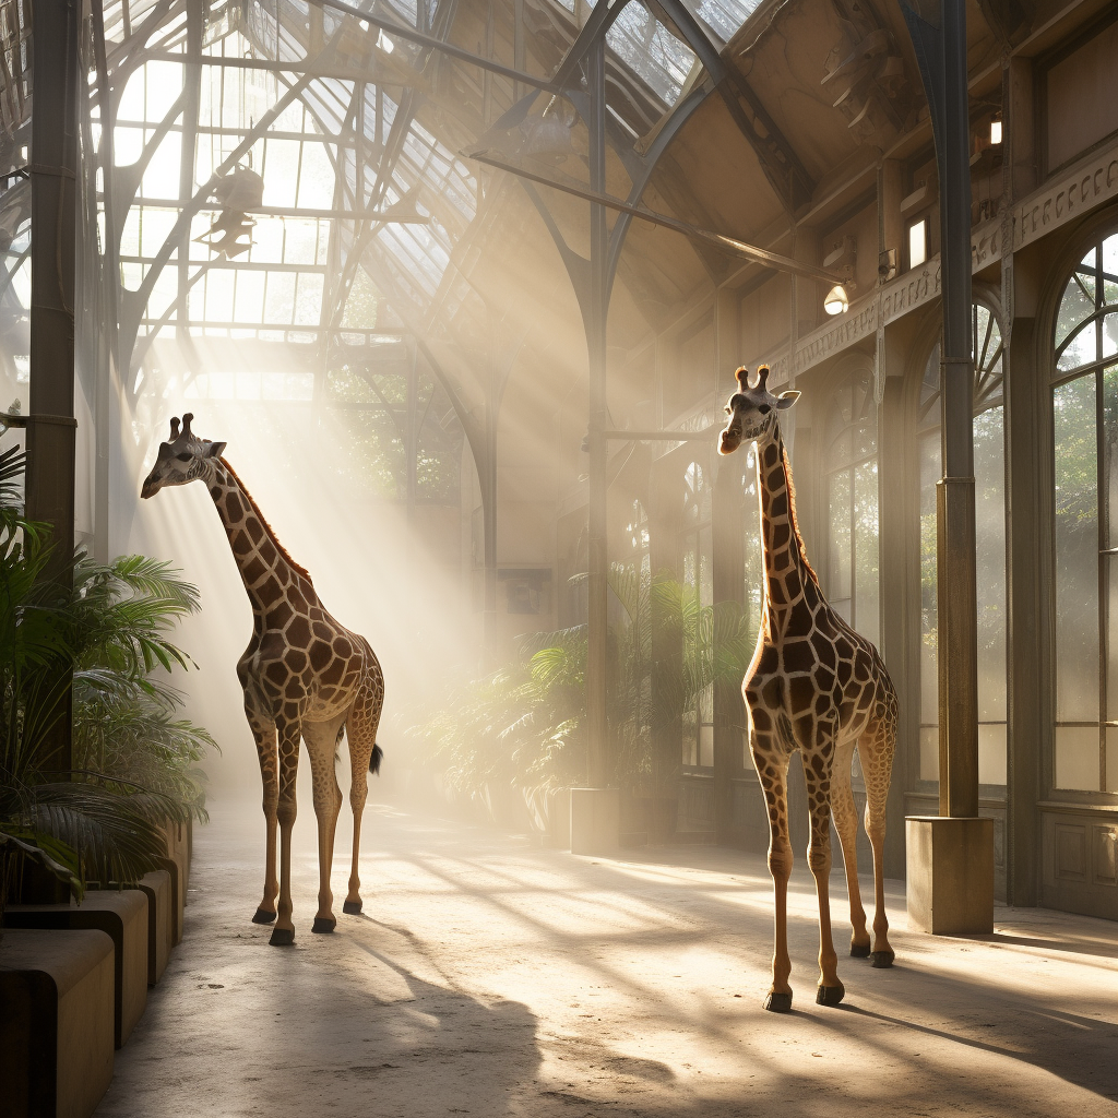
[[[986,939],[906,930],[814,1002],[815,894],[789,899],[795,1012],[767,1014],[770,882],[722,849],[572,858],[371,805],[366,915],[312,936],[309,805],[294,948],[249,922],[256,805],[197,831],[187,932],[98,1118],[1118,1114],[1118,925],[999,908]],[[344,818],[344,813],[343,813]],[[341,828],[340,828],[341,830]],[[841,874],[836,940],[849,937]]]

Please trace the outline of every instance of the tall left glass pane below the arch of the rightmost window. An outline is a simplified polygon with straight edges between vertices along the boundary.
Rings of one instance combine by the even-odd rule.
[[[1052,394],[1057,718],[1064,722],[1095,722],[1099,717],[1095,399],[1093,376],[1061,385]]]

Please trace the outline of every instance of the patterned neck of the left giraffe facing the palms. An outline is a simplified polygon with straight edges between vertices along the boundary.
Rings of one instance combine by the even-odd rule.
[[[304,601],[318,600],[310,575],[287,555],[259,505],[222,459],[214,464],[209,491],[253,612],[267,614],[282,599],[291,600],[293,589]]]

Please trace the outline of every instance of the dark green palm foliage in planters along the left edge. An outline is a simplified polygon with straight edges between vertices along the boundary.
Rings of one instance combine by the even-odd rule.
[[[197,590],[141,556],[79,555],[73,589],[46,581],[48,533],[22,514],[23,466],[18,449],[0,452],[0,912],[23,860],[78,896],[91,873],[154,869],[160,825],[205,814],[195,764],[214,747],[172,718],[181,698],[165,674],[190,665],[170,632]]]

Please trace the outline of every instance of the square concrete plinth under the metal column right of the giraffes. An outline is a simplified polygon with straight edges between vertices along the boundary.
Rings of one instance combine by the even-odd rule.
[[[994,821],[910,815],[909,927],[934,936],[994,931]]]

